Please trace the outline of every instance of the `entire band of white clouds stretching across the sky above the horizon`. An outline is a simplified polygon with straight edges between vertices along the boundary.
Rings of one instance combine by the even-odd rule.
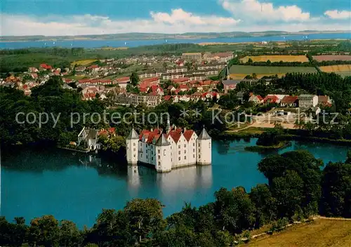
[[[15,15],[0,13],[1,35],[69,36],[86,34],[121,34],[152,32],[261,32],[280,30],[348,30],[350,11],[326,11],[324,16],[310,16],[298,6],[273,6],[257,0],[219,0],[232,17],[199,15],[182,8],[170,12],[150,12],[149,18],[117,20],[101,15]],[[332,20],[336,19],[336,20]],[[338,19],[338,20],[337,20]]]

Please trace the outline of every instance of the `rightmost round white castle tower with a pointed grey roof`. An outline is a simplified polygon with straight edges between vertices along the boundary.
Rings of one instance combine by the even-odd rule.
[[[212,140],[205,128],[202,129],[197,138],[197,164],[211,165],[212,163]]]

